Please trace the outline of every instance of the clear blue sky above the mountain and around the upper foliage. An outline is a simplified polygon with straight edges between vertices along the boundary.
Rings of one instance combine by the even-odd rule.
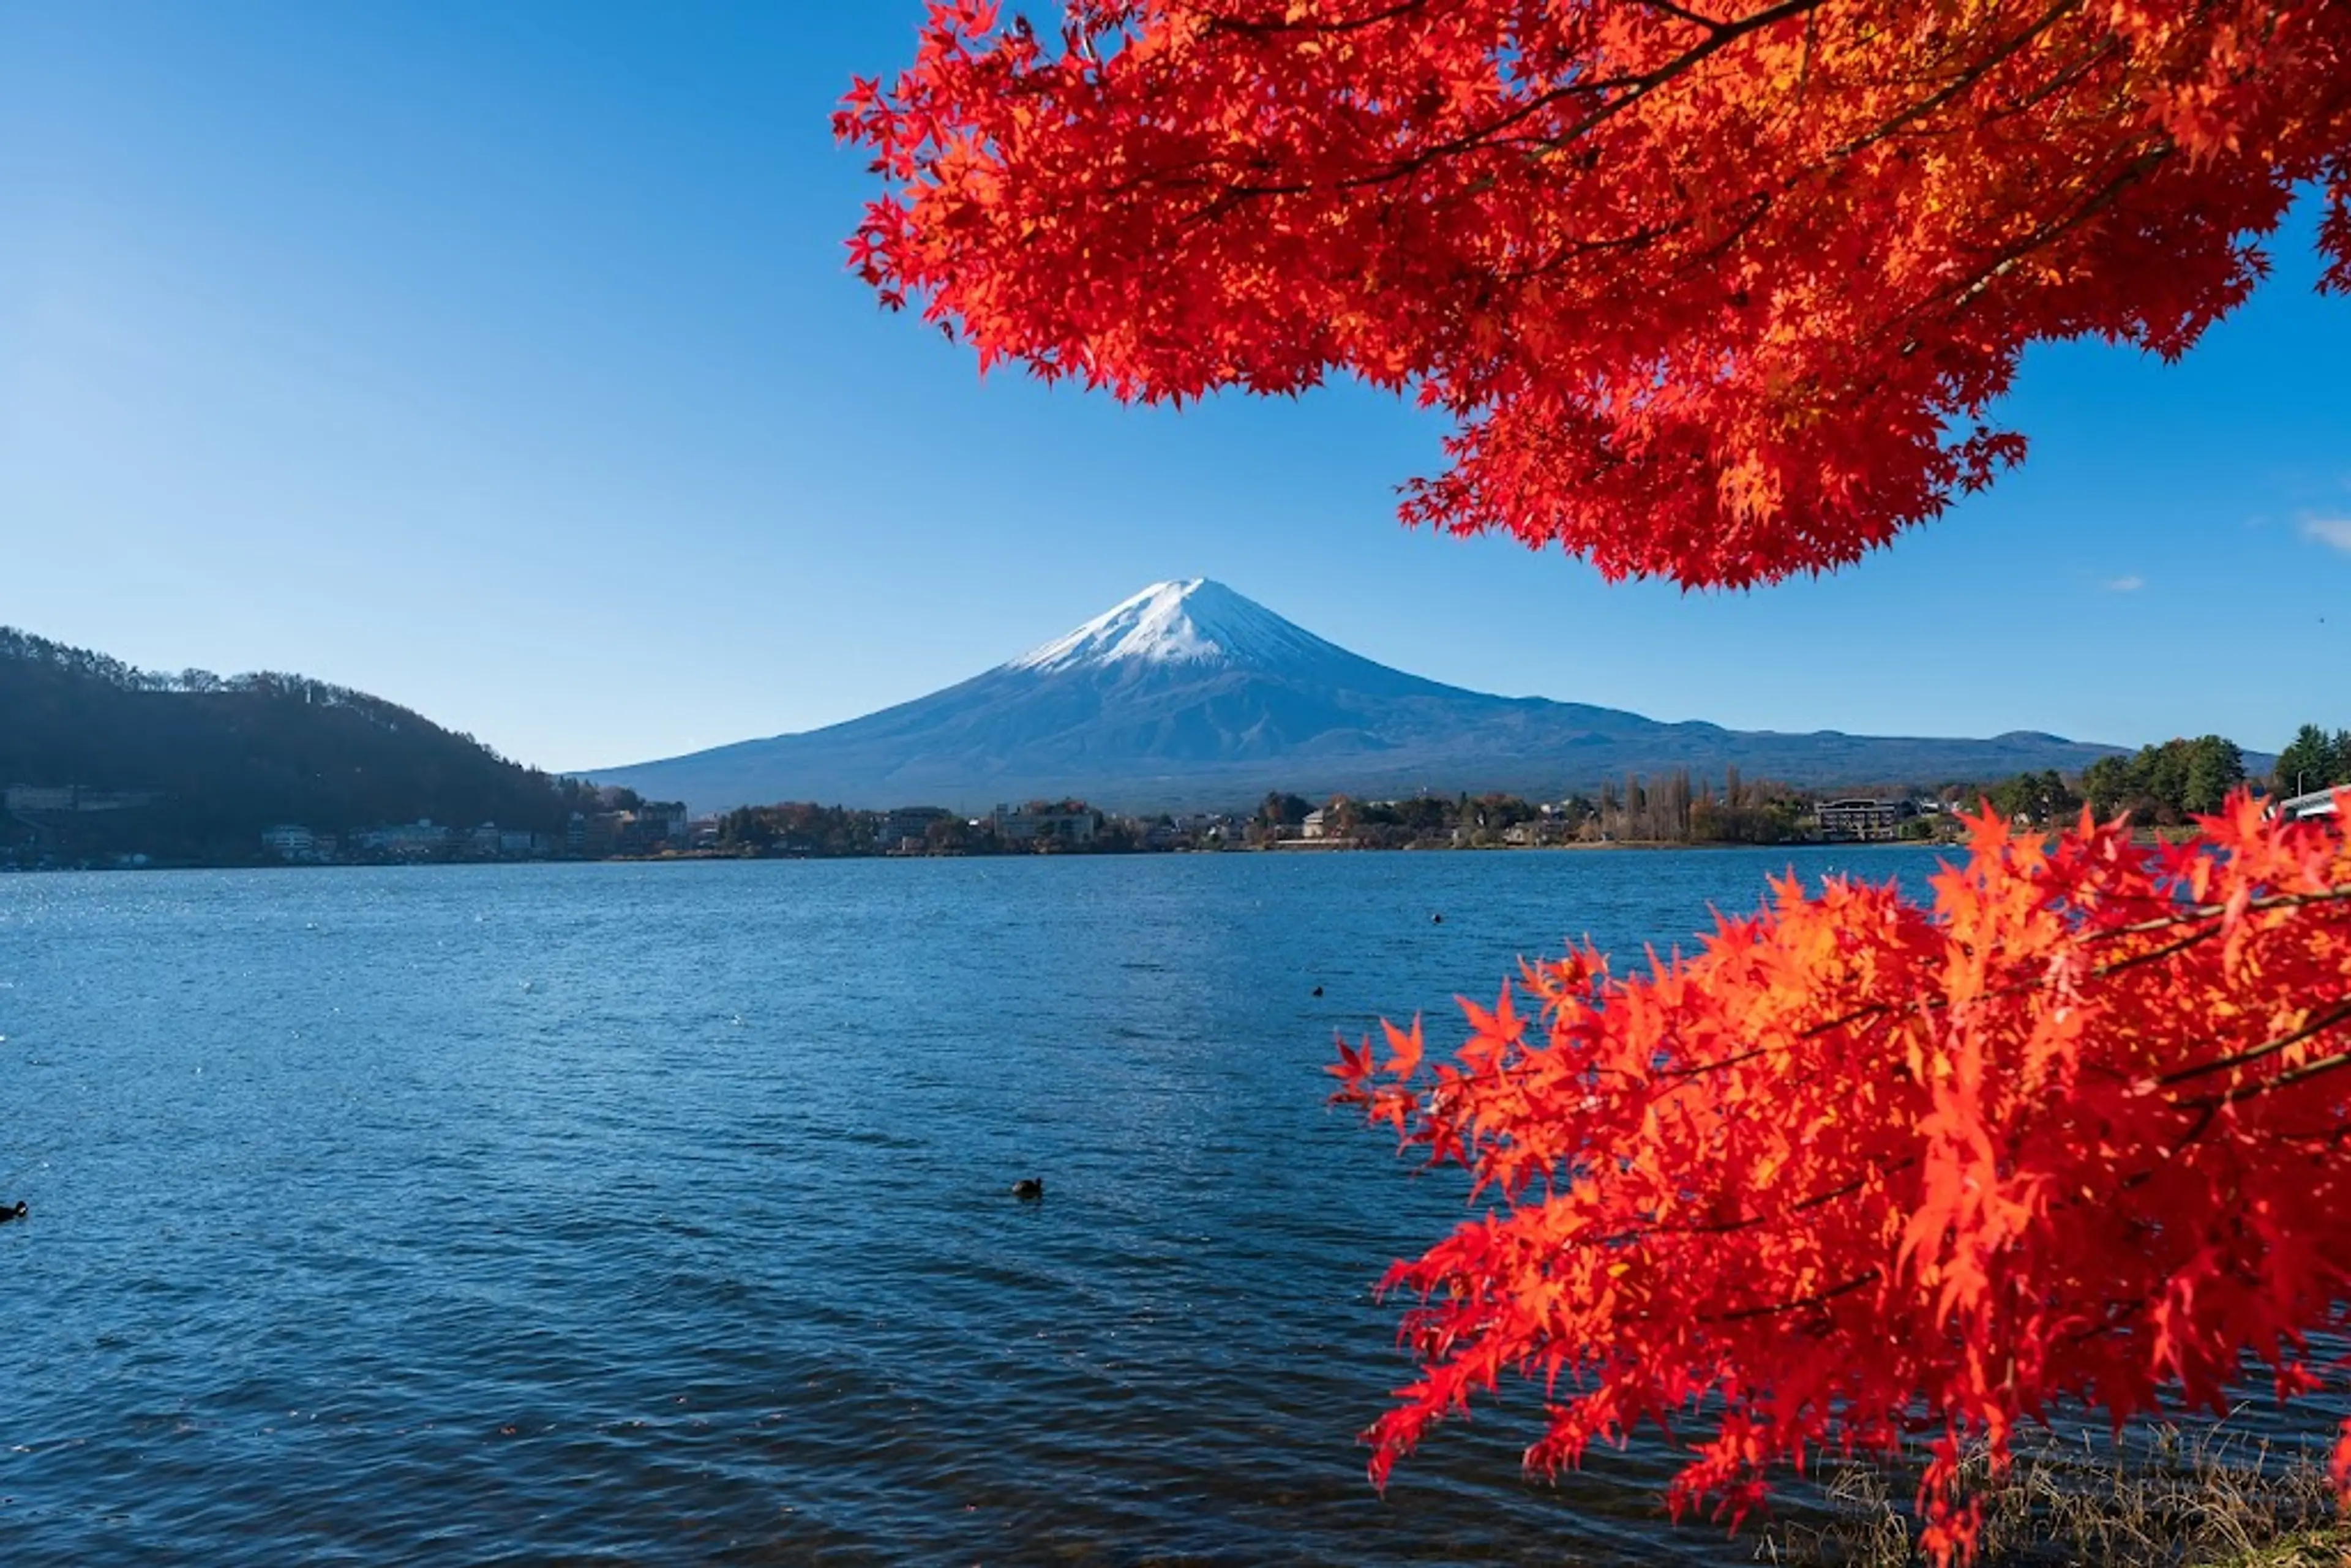
[[[0,623],[588,766],[950,684],[1213,576],[1436,679],[1751,729],[2351,724],[2351,301],[2311,214],[2177,367],[2027,360],[2029,463],[1834,578],[1606,585],[1394,522],[1441,428],[1121,409],[842,270],[858,5],[0,0]]]

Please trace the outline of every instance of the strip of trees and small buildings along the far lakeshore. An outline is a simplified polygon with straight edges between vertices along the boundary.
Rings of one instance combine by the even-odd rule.
[[[2273,776],[2278,809],[2304,816],[2335,809],[2327,795],[2337,773],[2335,738],[2311,766],[2292,748]],[[2292,785],[2318,783],[2318,790]],[[379,823],[329,830],[275,823],[237,860],[165,858],[139,849],[103,856],[61,853],[73,827],[113,820],[113,839],[136,813],[162,806],[160,792],[85,790],[78,785],[9,785],[0,870],[143,870],[195,863],[235,865],[418,865],[498,860],[675,860],[675,858],[860,858],[860,856],[1018,856],[1018,853],[1206,853],[1206,851],[1378,851],[1378,849],[1606,849],[1709,844],[1933,844],[1963,835],[1961,813],[1989,804],[2024,825],[2071,820],[2083,806],[2097,816],[2130,811],[2144,827],[2179,827],[2217,809],[2226,790],[2248,780],[2236,745],[2205,736],[2109,757],[2078,778],[2055,771],[2020,773],[1998,785],[1940,790],[1822,792],[1766,780],[1693,780],[1676,769],[1662,780],[1643,776],[1587,795],[1531,802],[1516,795],[1415,795],[1352,799],[1270,792],[1253,811],[1192,811],[1126,816],[1084,799],[997,804],[983,816],[947,806],[886,811],[783,802],[694,816],[677,802],[647,802],[630,790],[583,788],[583,806],[557,830]],[[136,835],[132,835],[136,837]]]

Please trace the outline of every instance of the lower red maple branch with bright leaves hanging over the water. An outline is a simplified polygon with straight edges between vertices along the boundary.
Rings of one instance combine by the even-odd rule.
[[[1491,1204],[1387,1274],[1420,1371],[1375,1481],[1516,1373],[1549,1385],[1531,1469],[1688,1425],[1669,1507],[1733,1526],[1773,1467],[1928,1439],[1947,1563],[1980,1521],[1963,1443],[1998,1479],[2062,1401],[2121,1429],[2224,1408],[2248,1356],[2280,1399],[2339,1371],[2311,1335],[2351,1300],[2344,830],[2243,792],[2163,849],[2088,813],[1970,827],[1930,910],[1789,877],[1646,978],[1528,966],[1535,1011],[1465,1001],[1451,1063],[1418,1023],[1387,1060],[1340,1046],[1338,1098]]]

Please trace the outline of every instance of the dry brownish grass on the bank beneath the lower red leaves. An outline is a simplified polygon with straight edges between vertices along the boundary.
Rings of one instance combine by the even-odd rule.
[[[2215,1425],[2125,1436],[2020,1441],[2010,1481],[1984,1505],[1982,1568],[2351,1568],[2323,1448],[2278,1448]],[[1970,1460],[1968,1483],[1987,1467]],[[1911,1476],[1843,1465],[1824,1507],[1777,1523],[1759,1561],[1789,1568],[1909,1568]]]

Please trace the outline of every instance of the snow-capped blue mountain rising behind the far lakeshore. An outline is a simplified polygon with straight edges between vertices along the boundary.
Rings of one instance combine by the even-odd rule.
[[[1154,583],[1065,637],[945,691],[769,741],[590,769],[717,811],[1077,795],[1121,811],[1307,797],[1512,790],[1690,769],[1796,785],[1996,780],[2081,769],[2111,745],[1733,731],[1617,708],[1505,698],[1373,663],[1206,578]]]

